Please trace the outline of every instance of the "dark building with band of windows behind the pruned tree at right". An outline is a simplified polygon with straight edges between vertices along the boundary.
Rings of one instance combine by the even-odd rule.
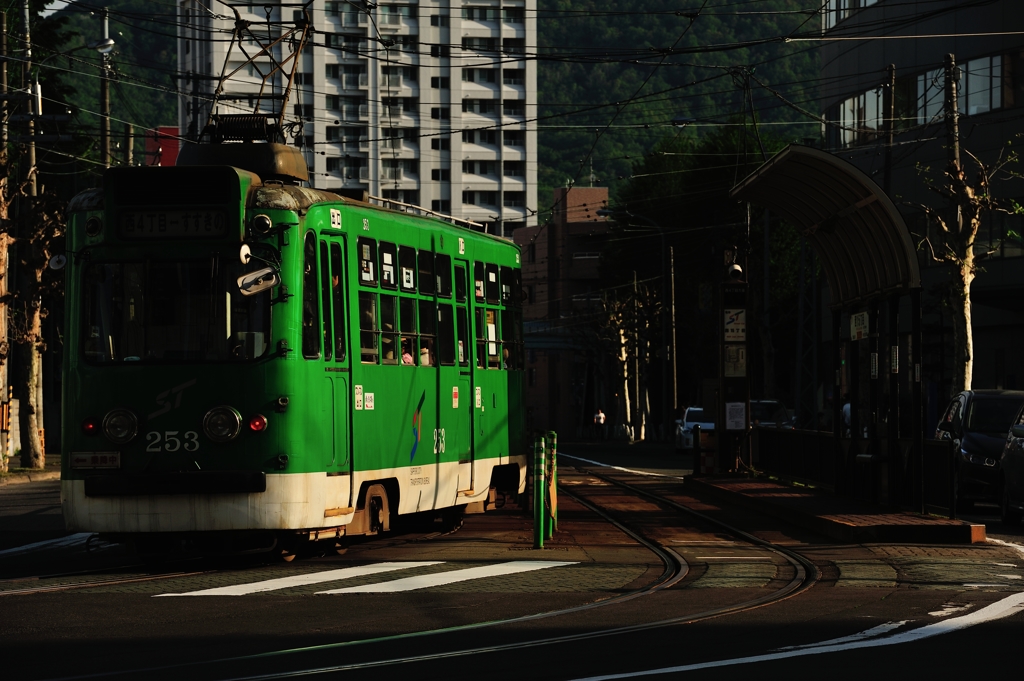
[[[958,66],[957,100],[963,167],[974,174],[974,155],[991,163],[1021,143],[1024,115],[1024,3],[1017,0],[830,0],[823,14],[821,111],[826,148],[851,161],[888,191],[915,241],[934,225],[915,207],[946,210],[948,202],[927,180],[941,183],[949,137],[943,60]],[[1009,34],[1009,35],[1008,35]],[[889,66],[895,67],[894,144],[887,144],[885,107]],[[888,159],[888,160],[887,160]],[[1017,172],[1024,167],[1013,168]],[[888,174],[888,182],[887,182]],[[1006,179],[993,191],[1024,199],[1024,182]],[[1024,243],[1020,215],[985,216],[975,252],[986,254],[972,300],[974,387],[1024,388]],[[928,415],[934,424],[949,394],[952,329],[943,309],[948,265],[920,250],[925,287],[925,372]],[[933,426],[934,427],[934,426]]]

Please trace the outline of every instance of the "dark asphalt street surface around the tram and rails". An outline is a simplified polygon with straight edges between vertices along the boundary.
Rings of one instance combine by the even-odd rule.
[[[684,458],[640,448],[562,451],[655,475],[563,459],[559,530],[544,550],[534,548],[530,519],[509,504],[467,516],[454,533],[424,521],[356,542],[343,555],[142,563],[128,547],[66,536],[55,481],[3,485],[5,669],[12,679],[379,679],[475,671],[559,680],[950,678],[976,674],[981,658],[988,671],[1016,669],[1024,528],[1002,527],[987,513],[994,509],[969,516],[988,525],[996,541],[985,544],[840,544],[692,494],[678,479],[688,472]],[[607,477],[598,477],[601,471]],[[638,497],[616,480],[702,517]],[[683,579],[649,591],[665,579],[663,560],[584,503],[675,551],[686,564]],[[796,550],[816,567],[813,586],[700,619],[770,598],[796,579],[772,547],[716,522]],[[699,621],[680,622],[688,618]]]

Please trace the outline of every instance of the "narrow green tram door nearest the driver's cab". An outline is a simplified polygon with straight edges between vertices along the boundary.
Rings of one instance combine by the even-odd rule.
[[[324,369],[334,392],[334,452],[328,474],[348,475],[351,472],[349,423],[351,413],[348,405],[351,394],[349,386],[351,371],[348,356],[348,329],[345,324],[348,320],[345,310],[347,300],[345,291],[348,284],[345,272],[345,238],[335,237],[327,244],[321,242],[321,257],[324,271],[330,271],[330,278],[325,282]]]

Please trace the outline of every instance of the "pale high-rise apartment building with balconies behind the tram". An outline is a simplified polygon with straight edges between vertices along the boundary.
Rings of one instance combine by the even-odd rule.
[[[297,4],[180,3],[179,117],[196,139],[210,115],[279,111],[298,49]],[[317,188],[345,189],[474,220],[499,235],[537,210],[536,0],[313,0],[312,30],[285,111]],[[211,11],[213,10],[213,11]],[[236,34],[237,27],[241,31]],[[236,39],[232,41],[232,34]],[[257,56],[269,45],[268,55]],[[247,56],[248,55],[248,56]],[[273,62],[285,69],[273,73]],[[243,66],[246,65],[246,66]],[[217,94],[217,79],[232,74]],[[264,76],[267,76],[264,83]]]

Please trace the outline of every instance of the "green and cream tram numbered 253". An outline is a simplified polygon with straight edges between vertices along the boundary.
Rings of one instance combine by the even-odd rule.
[[[301,186],[283,144],[178,164],[69,209],[70,529],[287,549],[523,491],[518,247]]]

